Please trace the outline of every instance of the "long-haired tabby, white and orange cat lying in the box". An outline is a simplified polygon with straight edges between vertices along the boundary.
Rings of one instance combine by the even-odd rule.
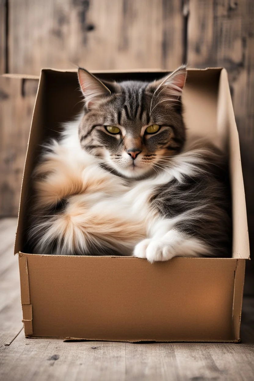
[[[34,170],[35,253],[230,256],[221,154],[187,148],[181,66],[153,82],[105,82],[78,69],[84,107]]]

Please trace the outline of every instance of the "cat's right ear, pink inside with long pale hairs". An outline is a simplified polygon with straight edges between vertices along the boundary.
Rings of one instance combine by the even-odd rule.
[[[165,98],[165,100],[178,99],[182,95],[186,75],[186,66],[180,66],[173,73],[166,75],[166,77],[149,83],[146,90],[152,93],[158,93],[158,96]]]

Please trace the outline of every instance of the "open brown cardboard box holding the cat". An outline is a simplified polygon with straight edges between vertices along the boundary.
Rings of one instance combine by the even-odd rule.
[[[101,72],[100,78],[152,80],[163,72]],[[21,190],[19,253],[26,337],[112,341],[240,340],[248,228],[238,133],[225,69],[188,70],[183,93],[189,133],[228,147],[233,203],[232,258],[52,256],[26,252],[30,176],[40,146],[80,110],[74,71],[40,75]]]

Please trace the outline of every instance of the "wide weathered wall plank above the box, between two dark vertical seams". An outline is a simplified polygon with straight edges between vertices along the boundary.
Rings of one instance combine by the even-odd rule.
[[[41,67],[171,68],[182,63],[178,0],[9,0],[10,72]],[[27,20],[27,22],[24,22]]]

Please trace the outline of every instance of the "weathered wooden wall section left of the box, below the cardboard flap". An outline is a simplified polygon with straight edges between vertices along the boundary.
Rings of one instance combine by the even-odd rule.
[[[0,77],[0,216],[17,216],[38,81]]]

